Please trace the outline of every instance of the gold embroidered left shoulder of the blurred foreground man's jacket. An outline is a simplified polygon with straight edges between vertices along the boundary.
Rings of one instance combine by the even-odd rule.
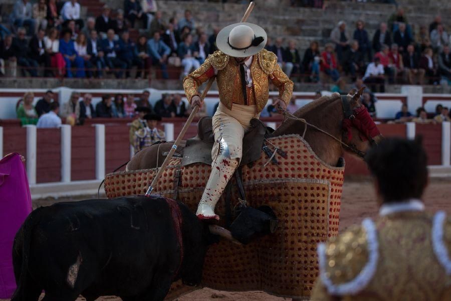
[[[352,226],[326,244],[326,277],[341,284],[353,280],[368,262],[366,231]]]

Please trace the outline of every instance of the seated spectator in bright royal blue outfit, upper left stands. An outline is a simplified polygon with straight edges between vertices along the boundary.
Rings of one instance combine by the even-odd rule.
[[[63,38],[60,39],[60,53],[63,55],[64,61],[66,62],[67,77],[73,77],[72,67],[77,68],[75,77],[85,77],[85,61],[82,57],[77,55],[74,41],[71,40],[71,30],[63,30],[62,36]]]

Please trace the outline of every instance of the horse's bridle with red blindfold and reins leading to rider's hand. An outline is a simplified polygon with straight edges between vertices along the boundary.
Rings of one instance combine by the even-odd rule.
[[[355,97],[356,95],[354,94],[353,97]],[[341,95],[341,103],[342,103],[342,107],[343,107],[343,113],[344,113],[344,119],[343,119],[343,129],[347,132],[347,141],[351,141],[352,139],[352,134],[350,132],[350,127],[354,126],[359,130],[360,133],[360,137],[365,141],[365,138],[367,140],[370,141],[371,144],[376,143],[376,141],[373,139],[375,136],[379,135],[380,132],[377,129],[376,125],[374,124],[374,121],[372,121],[371,117],[369,117],[371,119],[372,124],[368,125],[368,116],[369,113],[366,109],[365,106],[361,106],[357,109],[352,109],[351,108],[351,104],[349,103],[348,97],[347,95]],[[304,118],[299,118],[296,117],[295,115],[293,115],[292,113],[288,112],[287,110],[283,110],[284,116],[288,119],[293,119],[293,120],[298,120],[301,121],[305,124],[305,128],[304,128],[304,133],[302,134],[302,138],[304,138],[305,133],[307,131],[307,125],[316,129],[317,131],[320,131],[328,136],[330,136],[331,138],[333,138],[334,140],[336,140],[337,142],[339,142],[340,144],[342,144],[344,147],[348,148],[349,150],[351,150],[354,154],[356,154],[358,157],[360,157],[362,160],[365,158],[365,153],[362,152],[360,149],[357,148],[357,146],[355,144],[352,143],[345,143],[343,142],[344,140],[344,133],[343,133],[343,137],[342,140],[338,139],[337,137],[335,137],[334,135],[330,134],[329,132],[319,128],[318,126],[311,124],[309,122],[307,122],[307,120],[305,120]],[[363,121],[363,122],[362,122]],[[362,124],[363,123],[363,124]],[[365,127],[369,127],[367,129],[365,129]]]

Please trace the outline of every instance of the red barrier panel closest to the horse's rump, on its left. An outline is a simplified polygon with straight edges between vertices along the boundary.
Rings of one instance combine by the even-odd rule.
[[[122,125],[105,126],[105,172],[112,173],[130,159],[129,127]]]

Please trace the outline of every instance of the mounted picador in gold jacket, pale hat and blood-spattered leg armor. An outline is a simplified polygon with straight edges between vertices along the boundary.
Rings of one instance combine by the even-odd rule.
[[[255,24],[238,23],[225,27],[216,37],[219,49],[183,80],[191,106],[202,106],[197,88],[216,76],[219,105],[213,116],[214,145],[211,174],[197,208],[199,219],[216,219],[214,207],[239,166],[243,136],[252,118],[259,118],[268,102],[269,81],[279,88],[274,105],[285,109],[293,92],[293,82],[277,64],[277,56],[264,49],[266,32]]]

